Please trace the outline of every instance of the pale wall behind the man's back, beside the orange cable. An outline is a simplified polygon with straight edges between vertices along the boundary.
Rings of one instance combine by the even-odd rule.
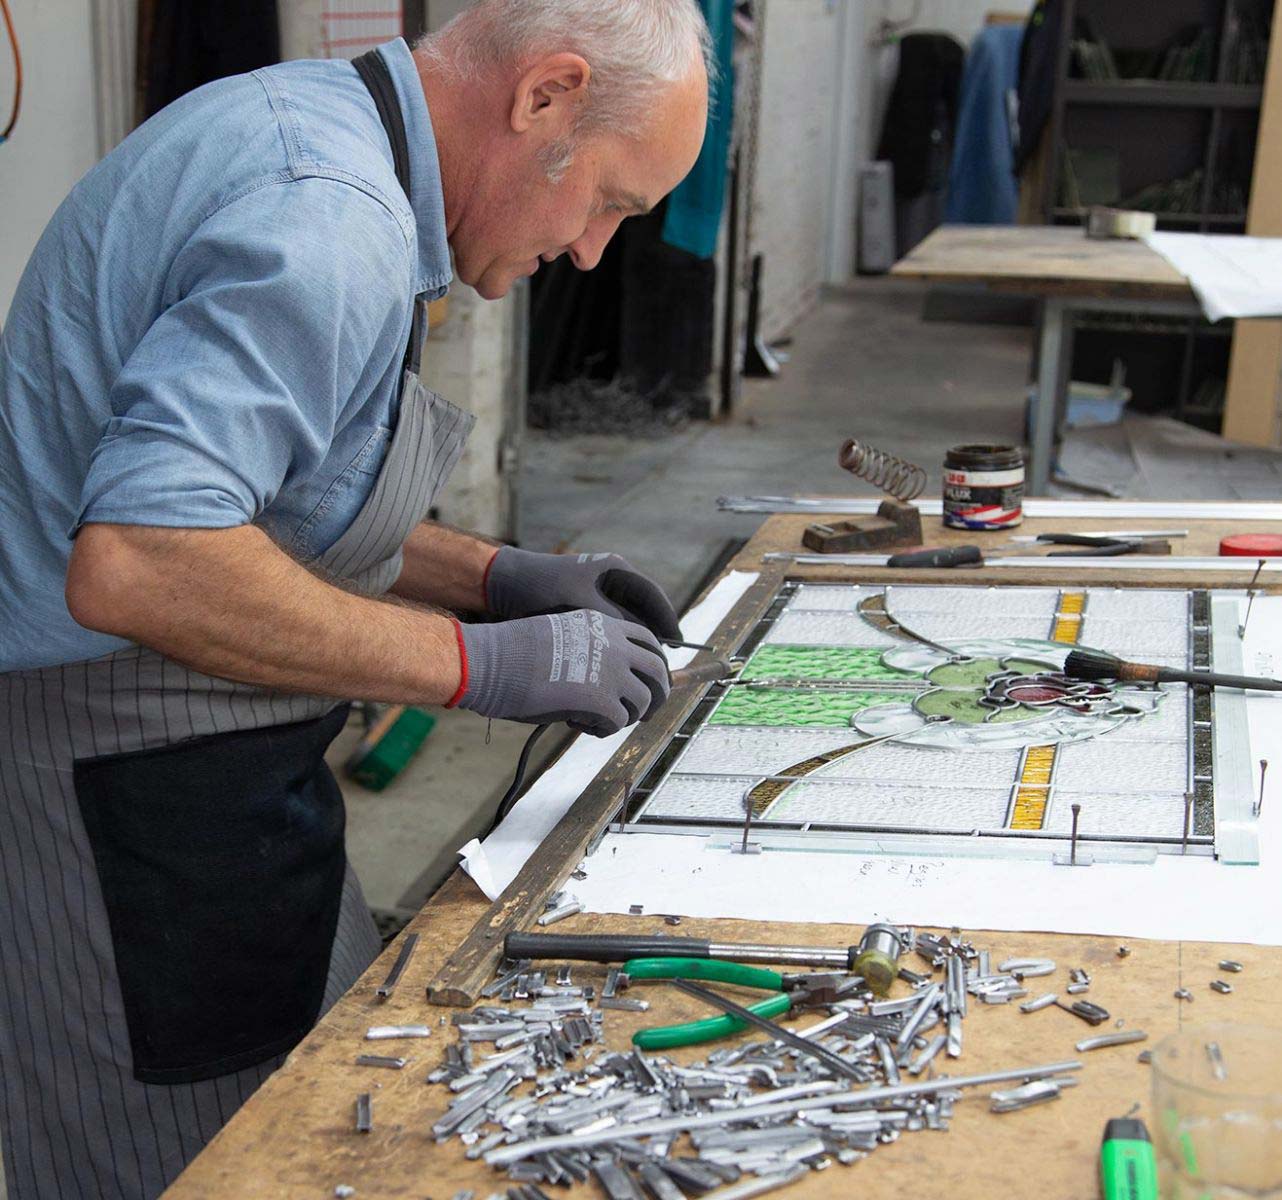
[[[72,185],[97,160],[88,0],[9,0],[22,45],[22,115],[0,145],[0,322],[36,240]],[[0,38],[0,121],[13,59]]]

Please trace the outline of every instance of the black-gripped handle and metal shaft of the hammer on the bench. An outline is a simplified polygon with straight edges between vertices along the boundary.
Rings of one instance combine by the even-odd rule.
[[[709,958],[850,971],[859,946],[770,946],[760,942],[669,937],[663,933],[509,933],[504,938],[503,953],[510,959],[569,959],[579,963],[626,963],[635,958]]]

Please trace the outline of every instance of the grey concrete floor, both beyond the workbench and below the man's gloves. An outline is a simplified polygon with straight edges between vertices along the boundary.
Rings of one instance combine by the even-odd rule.
[[[831,294],[797,328],[782,373],[746,381],[742,410],[729,421],[654,440],[531,432],[523,545],[618,551],[683,605],[727,544],[760,523],[718,513],[722,494],[876,495],[836,465],[851,436],[920,462],[933,490],[949,446],[1018,441],[1029,331],[923,326],[922,299],[919,286],[888,279]],[[495,722],[486,745],[481,718],[438,717],[383,792],[345,785],[349,855],[378,909],[408,915],[453,869],[455,850],[488,827],[528,732]],[[354,723],[332,760],[345,759],[358,736]]]

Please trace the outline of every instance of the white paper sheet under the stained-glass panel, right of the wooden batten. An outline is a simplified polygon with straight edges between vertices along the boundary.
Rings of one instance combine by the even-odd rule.
[[[1282,671],[1282,597],[1256,597],[1244,650],[1247,674]],[[641,904],[686,917],[1282,945],[1282,695],[1251,692],[1246,705],[1253,769],[1261,758],[1276,764],[1265,776],[1255,867],[1178,855],[1090,867],[809,849],[740,855],[724,849],[724,833],[610,833],[574,894],[592,913]]]

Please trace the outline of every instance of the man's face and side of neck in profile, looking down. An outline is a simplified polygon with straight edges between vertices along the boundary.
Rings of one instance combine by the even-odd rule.
[[[562,254],[591,271],[626,217],[646,213],[694,167],[708,119],[701,69],[667,88],[638,138],[608,131],[577,144],[564,132],[522,138],[501,169],[483,173],[478,203],[454,231],[458,277],[486,300]],[[542,132],[542,131],[540,131]],[[549,164],[573,150],[560,178]]]

